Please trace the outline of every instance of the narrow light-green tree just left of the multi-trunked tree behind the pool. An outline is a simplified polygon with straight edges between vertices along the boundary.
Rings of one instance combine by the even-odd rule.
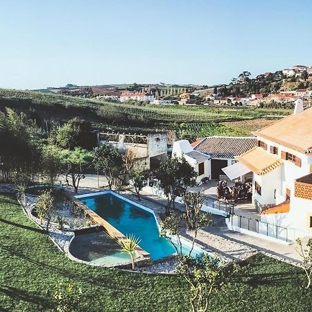
[[[62,150],[49,144],[42,148],[42,172],[51,185],[58,179],[62,170]]]

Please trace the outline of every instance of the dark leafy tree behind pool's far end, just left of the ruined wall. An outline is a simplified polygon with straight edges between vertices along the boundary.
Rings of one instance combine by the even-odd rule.
[[[102,171],[107,178],[108,186],[112,189],[114,175],[123,170],[123,157],[116,148],[103,144],[94,149],[94,167]]]

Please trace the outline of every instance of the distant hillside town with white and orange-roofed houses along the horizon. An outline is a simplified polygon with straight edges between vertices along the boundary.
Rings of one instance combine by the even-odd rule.
[[[297,98],[311,104],[312,67],[295,65],[275,73],[266,72],[250,78],[243,71],[228,85],[169,85],[166,83],[132,85],[94,85],[48,87],[40,92],[70,96],[103,98],[121,103],[154,105],[250,105],[293,104]]]

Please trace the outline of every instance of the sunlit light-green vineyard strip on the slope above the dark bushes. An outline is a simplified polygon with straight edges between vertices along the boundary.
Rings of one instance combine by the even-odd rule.
[[[246,119],[256,116],[257,112],[250,110],[218,110],[207,107],[179,107],[160,105],[127,105],[122,103],[108,103],[98,99],[78,98],[60,94],[44,94],[41,92],[0,89],[0,98],[12,101],[22,100],[37,105],[61,105],[71,108],[79,107],[96,112],[103,118],[116,114],[119,118],[133,121],[161,121],[161,122],[187,122],[187,121],[227,121],[231,119]],[[121,114],[121,115],[120,115]]]

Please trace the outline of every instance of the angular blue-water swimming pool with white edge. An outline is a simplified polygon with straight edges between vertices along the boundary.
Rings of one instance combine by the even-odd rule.
[[[159,236],[159,225],[153,210],[139,205],[112,191],[76,196],[89,209],[96,212],[122,234],[134,234],[141,239],[140,247],[150,253],[152,260],[159,260],[175,253],[175,248]],[[182,253],[188,254],[191,245],[182,242]],[[194,248],[192,255],[203,252]]]

